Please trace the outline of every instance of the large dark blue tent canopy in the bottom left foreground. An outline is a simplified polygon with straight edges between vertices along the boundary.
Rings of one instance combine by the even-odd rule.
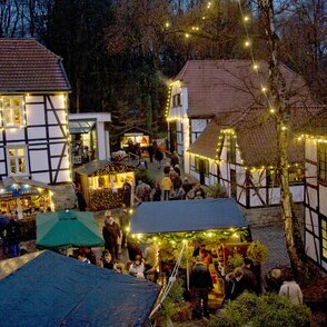
[[[43,251],[0,280],[2,327],[142,326],[160,286]]]

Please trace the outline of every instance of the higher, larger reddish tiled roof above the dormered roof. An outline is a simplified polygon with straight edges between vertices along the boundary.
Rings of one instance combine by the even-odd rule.
[[[214,117],[219,112],[242,111],[266,105],[261,85],[268,80],[268,66],[259,73],[249,60],[189,60],[175,80],[188,89],[189,117]],[[280,65],[293,107],[314,106],[304,79]]]

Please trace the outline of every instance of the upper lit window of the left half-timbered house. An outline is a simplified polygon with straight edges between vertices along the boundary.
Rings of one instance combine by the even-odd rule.
[[[6,107],[6,101],[8,100],[9,107]],[[16,100],[19,100],[19,106],[14,105]],[[3,127],[21,127],[26,125],[23,96],[3,96],[1,107]],[[16,110],[19,110],[19,122],[16,122]],[[8,112],[10,112],[10,115],[8,115]]]

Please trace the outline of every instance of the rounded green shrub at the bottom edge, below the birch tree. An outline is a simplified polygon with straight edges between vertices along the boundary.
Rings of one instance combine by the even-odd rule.
[[[210,327],[306,327],[310,325],[310,309],[293,304],[277,294],[256,296],[245,293],[230,303]]]

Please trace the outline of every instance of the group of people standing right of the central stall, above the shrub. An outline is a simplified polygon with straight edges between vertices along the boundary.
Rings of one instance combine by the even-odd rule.
[[[191,286],[195,294],[194,318],[209,317],[208,295],[214,288],[209,271],[212,256],[205,245],[199,246],[195,252],[195,265],[191,270]],[[219,267],[217,272],[225,284],[225,296],[222,306],[235,300],[242,293],[248,291],[256,295],[275,293],[287,297],[294,304],[303,304],[303,293],[295,281],[290,269],[271,269],[261,278],[260,269],[249,258],[244,258],[244,264],[227,274]]]

